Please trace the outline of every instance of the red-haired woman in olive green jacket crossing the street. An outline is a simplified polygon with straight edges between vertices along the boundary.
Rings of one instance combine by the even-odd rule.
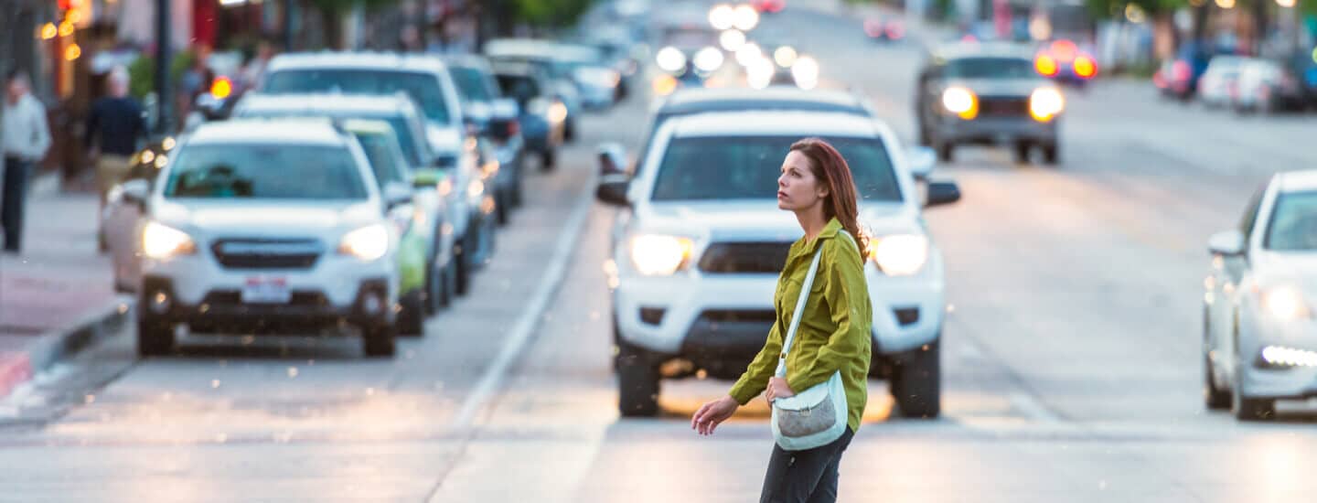
[[[826,384],[834,374],[839,375],[846,396],[846,429],[840,437],[801,450],[774,444],[760,492],[760,503],[836,502],[842,453],[860,427],[868,399],[873,311],[864,258],[869,242],[856,221],[851,169],[827,142],[807,138],[792,145],[777,188],[777,207],[794,212],[805,230],[805,237],[792,245],[777,280],[773,298],[777,321],[764,349],[731,391],[703,404],[691,417],[691,428],[699,435],[712,435],[718,424],[761,391],[766,390],[772,406],[773,400]],[[803,303],[798,303],[801,295]],[[797,315],[799,320],[793,325]]]

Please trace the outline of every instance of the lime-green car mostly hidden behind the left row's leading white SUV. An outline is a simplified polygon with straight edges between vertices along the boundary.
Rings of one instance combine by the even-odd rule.
[[[348,120],[344,129],[357,137],[361,150],[375,174],[375,184],[385,190],[390,184],[412,186],[411,166],[398,144],[398,136],[389,122],[381,120]],[[446,304],[453,284],[448,261],[441,265],[431,259],[435,230],[433,217],[423,204],[416,204],[417,196],[407,204],[398,204],[389,211],[389,220],[398,232],[398,333],[420,336],[425,329],[425,315],[440,304]],[[419,199],[424,200],[424,196]],[[452,257],[452,252],[440,254]],[[435,280],[437,279],[437,280]]]

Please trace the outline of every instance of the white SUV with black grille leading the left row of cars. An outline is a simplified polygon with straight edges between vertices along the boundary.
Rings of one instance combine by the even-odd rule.
[[[327,120],[205,124],[158,183],[117,194],[145,211],[112,240],[138,295],[137,349],[192,333],[298,333],[350,324],[366,356],[392,356],[398,234],[411,187],[375,183],[361,145]]]

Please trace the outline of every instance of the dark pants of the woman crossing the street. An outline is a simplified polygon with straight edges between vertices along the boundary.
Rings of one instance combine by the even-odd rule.
[[[855,432],[846,428],[832,444],[809,450],[782,450],[773,444],[759,503],[834,503],[838,465]]]

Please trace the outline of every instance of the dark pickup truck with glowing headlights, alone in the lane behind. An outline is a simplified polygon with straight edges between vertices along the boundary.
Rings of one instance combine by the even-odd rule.
[[[1030,150],[1060,159],[1060,88],[1039,75],[1034,54],[1013,45],[960,43],[936,50],[919,71],[919,142],[951,162],[959,145],[1010,145],[1018,162]]]

